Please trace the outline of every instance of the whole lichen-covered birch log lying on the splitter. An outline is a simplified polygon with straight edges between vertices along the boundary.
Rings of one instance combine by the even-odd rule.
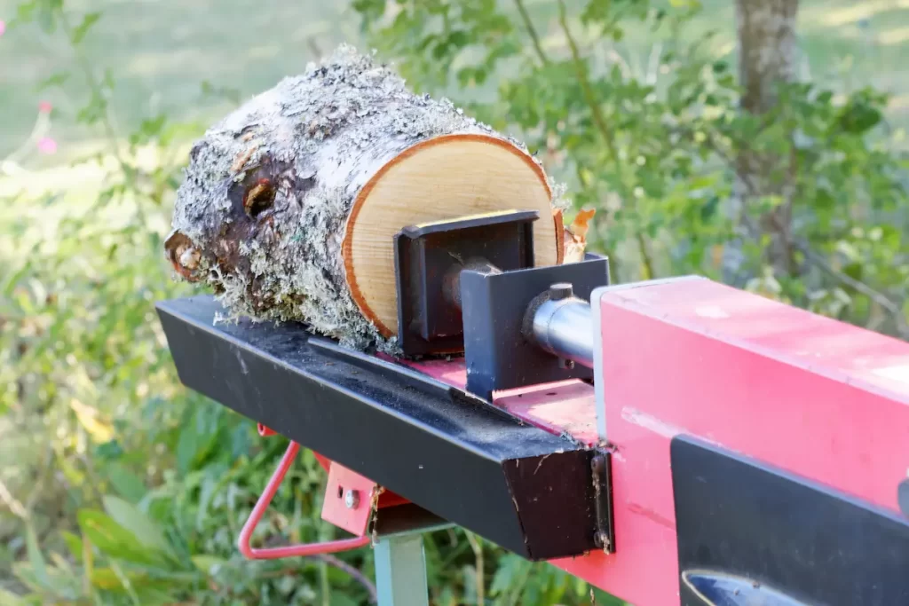
[[[397,353],[395,233],[536,210],[535,263],[561,263],[555,189],[523,144],[343,45],[193,146],[165,252],[232,316]]]

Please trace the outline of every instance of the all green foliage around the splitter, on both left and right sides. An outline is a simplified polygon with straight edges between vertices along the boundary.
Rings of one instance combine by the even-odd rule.
[[[694,1],[353,6],[410,85],[522,138],[576,208],[597,210],[590,242],[620,279],[703,273],[905,334],[907,166],[886,140],[884,95],[788,84],[770,112],[744,114],[713,37],[688,34]],[[96,187],[35,194],[25,181],[0,209],[0,453],[15,461],[0,469],[0,604],[365,603],[369,588],[336,562],[236,552],[284,443],[177,381],[154,302],[189,292],[160,251],[203,125],[164,108],[117,132],[117,75],[85,55],[103,19],[27,0],[10,24],[67,45],[73,63],[41,88],[81,84],[55,115],[107,147],[73,168]],[[765,253],[774,240],[784,263]],[[332,538],[324,480],[307,453],[255,541]],[[371,557],[339,560],[369,577]],[[436,533],[427,562],[438,604],[591,601],[583,582],[462,531]]]

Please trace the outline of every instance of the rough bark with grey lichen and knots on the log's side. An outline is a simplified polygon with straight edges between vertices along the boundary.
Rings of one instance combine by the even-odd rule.
[[[379,168],[455,133],[501,136],[448,100],[410,93],[392,70],[342,46],[195,144],[167,255],[185,278],[212,285],[234,315],[303,321],[346,345],[395,352],[348,289],[345,222]]]

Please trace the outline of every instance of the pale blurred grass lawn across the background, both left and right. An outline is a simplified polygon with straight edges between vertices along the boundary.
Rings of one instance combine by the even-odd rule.
[[[570,0],[578,5],[581,0]],[[500,0],[510,7],[507,0]],[[0,19],[10,21],[16,0],[0,0]],[[555,31],[554,3],[527,0],[543,32]],[[118,128],[128,132],[145,117],[165,112],[203,123],[229,111],[232,102],[202,94],[203,82],[235,90],[240,98],[265,90],[284,75],[341,41],[361,44],[357,15],[343,1],[282,0],[67,0],[74,11],[100,11],[85,38],[96,68],[115,75],[111,104]],[[696,29],[722,33],[722,50],[734,50],[734,11],[729,0],[705,0]],[[39,100],[55,104],[53,134],[60,152],[41,166],[64,162],[90,147],[97,133],[74,124],[85,99],[78,73],[59,90],[39,90],[46,78],[71,69],[71,51],[36,35],[34,25],[8,28],[0,37],[0,157],[30,131]],[[813,0],[802,3],[800,33],[805,73],[849,89],[874,84],[894,94],[897,124],[909,111],[909,0]],[[555,36],[554,36],[555,37]],[[558,40],[551,41],[554,45]],[[629,45],[639,45],[632,38]]]

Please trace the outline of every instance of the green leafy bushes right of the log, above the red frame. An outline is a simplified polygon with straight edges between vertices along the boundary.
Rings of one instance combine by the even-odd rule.
[[[524,140],[596,209],[591,245],[622,280],[702,273],[909,336],[909,194],[884,94],[781,84],[773,110],[743,113],[714,34],[688,33],[698,2],[388,4],[355,5],[380,55]]]

